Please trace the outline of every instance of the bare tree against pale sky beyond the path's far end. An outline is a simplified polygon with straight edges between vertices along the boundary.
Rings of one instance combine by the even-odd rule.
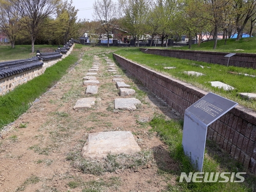
[[[115,28],[117,19],[120,17],[119,6],[112,0],[97,0],[93,4],[93,9],[96,19],[100,20],[101,26],[106,32],[109,47],[110,33]]]

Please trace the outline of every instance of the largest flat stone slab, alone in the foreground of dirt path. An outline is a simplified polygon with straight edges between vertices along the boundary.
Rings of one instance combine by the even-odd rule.
[[[132,155],[141,149],[131,132],[114,131],[90,133],[82,148],[83,158],[104,158],[108,154]]]

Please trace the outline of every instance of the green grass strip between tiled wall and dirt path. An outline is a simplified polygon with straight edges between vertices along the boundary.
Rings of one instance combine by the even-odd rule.
[[[81,46],[78,45],[75,48],[79,49]],[[10,93],[0,96],[0,130],[4,125],[13,122],[25,113],[29,109],[30,103],[51,88],[77,60],[78,53],[73,50],[68,57],[47,68],[44,74],[21,84]]]

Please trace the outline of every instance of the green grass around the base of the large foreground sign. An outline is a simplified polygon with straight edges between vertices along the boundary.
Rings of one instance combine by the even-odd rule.
[[[182,172],[187,175],[189,172],[195,173],[196,171],[190,165],[188,157],[183,153],[182,147],[182,121],[165,120],[164,116],[155,115],[150,122],[153,132],[157,132],[161,139],[168,145],[170,156],[179,165],[179,170],[175,172],[177,178],[176,185],[169,185],[167,191],[195,191],[195,192],[219,192],[219,191],[253,191],[253,183],[255,184],[256,178],[253,175],[247,174],[243,183],[234,182],[186,182],[179,183],[179,178]],[[165,170],[162,170],[168,174]],[[231,159],[227,153],[221,152],[221,149],[212,141],[206,142],[206,151],[203,164],[203,172],[244,172],[243,167],[236,160]],[[244,176],[244,175],[243,175]],[[219,178],[219,180],[223,180]]]

